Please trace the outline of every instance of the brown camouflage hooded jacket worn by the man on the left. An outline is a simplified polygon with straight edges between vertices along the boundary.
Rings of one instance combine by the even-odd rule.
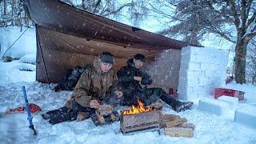
[[[87,68],[79,78],[74,93],[66,102],[66,107],[70,109],[73,101],[81,106],[90,107],[91,100],[96,99],[102,102],[116,90],[118,90],[118,77],[114,70],[110,69],[103,73],[96,58],[93,66]]]

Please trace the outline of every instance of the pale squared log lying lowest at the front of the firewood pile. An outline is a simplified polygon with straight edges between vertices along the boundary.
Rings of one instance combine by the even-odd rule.
[[[171,127],[165,128],[165,134],[171,137],[193,137],[193,129],[191,128],[182,128],[182,127]]]

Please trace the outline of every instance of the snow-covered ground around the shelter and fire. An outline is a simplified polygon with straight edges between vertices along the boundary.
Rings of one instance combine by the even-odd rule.
[[[14,52],[10,52],[14,54]],[[41,114],[46,110],[54,110],[63,106],[71,92],[55,93],[50,90],[54,84],[50,84],[49,88],[47,84],[35,82],[35,71],[31,68],[34,65],[28,64],[33,61],[33,58],[26,54],[31,54],[31,52],[28,51],[20,55],[20,58],[24,56],[24,61],[0,62],[0,112],[25,106],[22,86],[26,86],[29,102],[38,104],[43,110],[41,113],[33,114],[33,122],[38,136],[34,137],[28,128],[26,113],[1,114],[0,143],[256,143],[256,130],[198,110],[198,105],[195,105],[192,110],[181,113],[176,113],[169,106],[163,108],[165,113],[181,115],[187,118],[188,122],[194,123],[193,138],[173,138],[165,136],[162,131],[160,135],[158,132],[123,135],[119,130],[119,122],[94,126],[90,119],[83,122],[62,122],[52,126],[41,118]],[[30,68],[32,71],[24,71],[25,68]],[[239,107],[256,106],[256,86],[231,83],[226,87],[246,91],[246,100],[239,102]]]

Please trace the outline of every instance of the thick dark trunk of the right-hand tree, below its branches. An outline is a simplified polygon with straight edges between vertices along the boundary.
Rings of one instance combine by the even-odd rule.
[[[237,83],[246,83],[246,46],[244,39],[238,39],[235,46],[234,79]]]

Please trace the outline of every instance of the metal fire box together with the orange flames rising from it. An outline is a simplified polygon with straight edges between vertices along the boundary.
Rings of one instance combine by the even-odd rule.
[[[120,129],[124,134],[138,130],[159,130],[159,117],[159,110],[154,110],[151,106],[144,106],[138,100],[138,106],[121,111]]]

